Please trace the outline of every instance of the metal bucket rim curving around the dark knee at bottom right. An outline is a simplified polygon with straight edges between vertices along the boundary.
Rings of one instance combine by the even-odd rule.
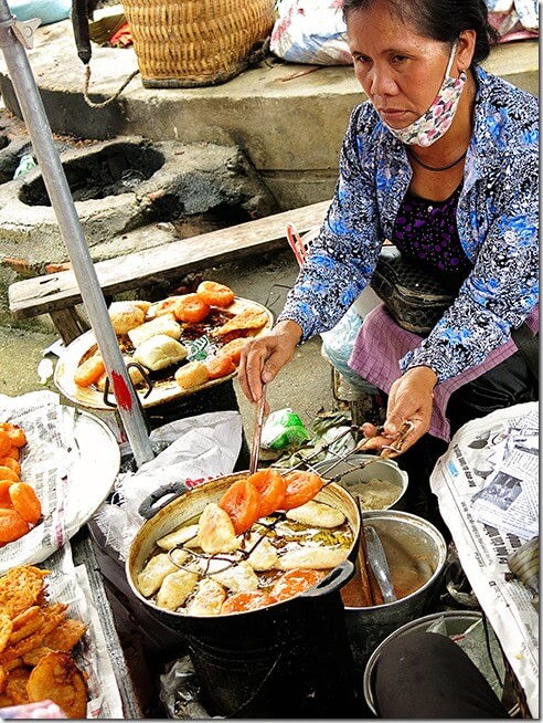
[[[377,714],[375,710],[375,701],[373,698],[373,683],[374,683],[373,673],[379,657],[383,652],[384,648],[392,640],[407,632],[412,632],[415,630],[419,630],[419,631],[427,630],[432,625],[437,622],[437,620],[439,620],[440,618],[445,619],[445,627],[446,627],[447,635],[453,637],[466,632],[466,630],[470,628],[473,625],[473,622],[477,622],[477,620],[480,620],[482,618],[482,615],[477,610],[458,610],[458,611],[446,610],[444,612],[434,612],[432,615],[425,616],[424,618],[418,618],[417,620],[412,620],[411,622],[407,622],[406,625],[402,626],[401,628],[392,632],[385,640],[383,640],[383,642],[381,642],[371,654],[364,671],[364,698],[372,713],[374,713],[375,715]],[[489,633],[491,637],[494,636],[494,632],[490,627],[489,627]],[[509,715],[511,717],[517,717],[518,713],[519,713],[519,704],[512,703],[509,710]]]

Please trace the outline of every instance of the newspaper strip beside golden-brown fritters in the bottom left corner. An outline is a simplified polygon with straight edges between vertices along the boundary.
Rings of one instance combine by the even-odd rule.
[[[85,566],[74,567],[72,548],[67,542],[40,567],[51,570],[51,576],[46,578],[49,599],[67,604],[67,616],[88,625],[85,636],[74,649],[74,660],[88,675],[87,717],[123,719],[123,702],[107,652],[99,615],[93,605]]]

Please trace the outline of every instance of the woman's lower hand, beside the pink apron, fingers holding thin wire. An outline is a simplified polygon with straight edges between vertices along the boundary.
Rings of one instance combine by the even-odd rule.
[[[402,451],[413,447],[429,429],[436,384],[437,375],[429,367],[413,367],[396,379],[388,395],[383,427],[377,431],[374,425],[362,426],[364,437],[370,438],[364,450],[382,450],[385,444],[394,446],[394,440],[406,421],[413,423],[413,429],[403,440]],[[390,457],[397,454],[398,452],[391,452]]]

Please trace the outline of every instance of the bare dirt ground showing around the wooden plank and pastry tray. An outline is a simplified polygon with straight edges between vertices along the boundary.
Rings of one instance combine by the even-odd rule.
[[[288,289],[294,284],[298,272],[297,263],[290,252],[276,252],[260,258],[249,258],[242,262],[224,264],[202,270],[203,277],[225,283],[238,296],[251,298],[266,305],[275,316],[283,308]],[[43,352],[57,340],[52,332],[44,334],[15,328],[0,327],[0,394],[18,396],[39,389],[58,391],[49,379],[41,384],[38,374]],[[47,355],[53,364],[54,355]],[[247,438],[251,438],[254,423],[254,408],[245,399],[237,379],[234,381],[239,411]],[[67,402],[67,400],[64,399]],[[331,384],[331,367],[321,356],[320,338],[304,344],[295,357],[269,386],[270,410],[290,407],[310,428],[320,410],[334,409]],[[70,402],[68,402],[70,404]]]

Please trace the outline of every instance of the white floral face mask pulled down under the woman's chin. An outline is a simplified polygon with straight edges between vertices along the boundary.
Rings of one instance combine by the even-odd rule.
[[[409,146],[432,146],[450,128],[455,114],[458,109],[460,95],[466,84],[466,73],[462,71],[459,77],[449,77],[450,67],[455,57],[457,43],[450,51],[449,62],[445,71],[445,78],[441,83],[436,97],[429,108],[419,118],[411,123],[405,128],[391,128],[385,123],[388,130],[402,143]]]

